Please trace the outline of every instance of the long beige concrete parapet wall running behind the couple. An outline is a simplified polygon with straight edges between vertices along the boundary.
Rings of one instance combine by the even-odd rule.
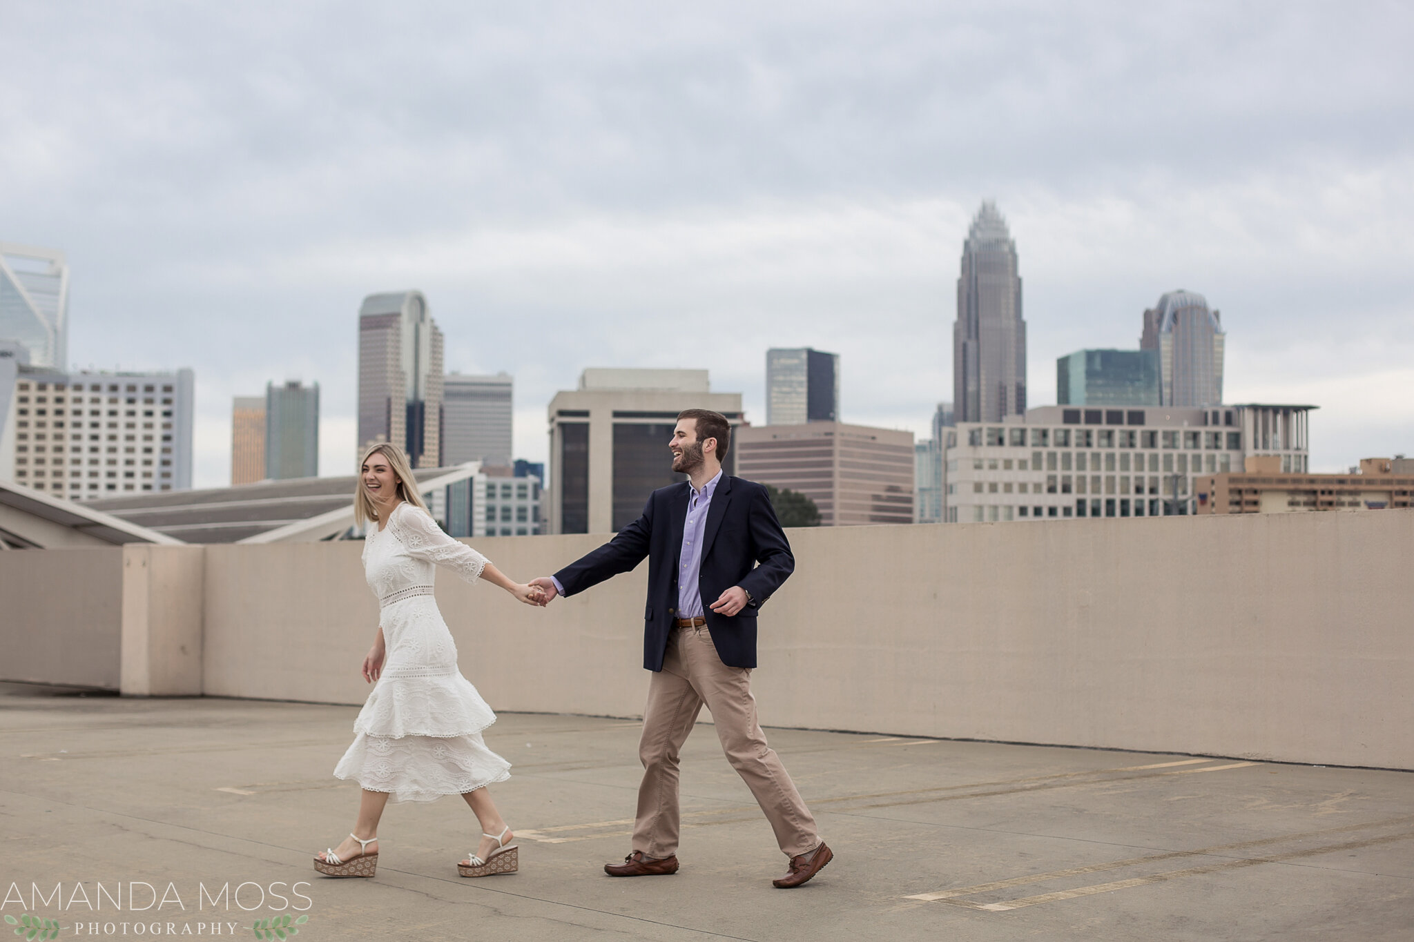
[[[848,527],[790,539],[796,575],[762,612],[754,674],[768,725],[1414,768],[1414,511]],[[527,579],[600,542],[477,545]],[[163,592],[188,599],[173,612],[201,597],[204,692],[362,702],[378,609],[359,545],[173,549],[202,554],[199,566],[181,562],[197,595]],[[52,585],[79,552],[95,551],[0,554],[0,588]],[[539,610],[443,572],[437,599],[462,672],[493,708],[635,716],[648,685],[645,575],[646,564]],[[54,617],[27,597],[18,610],[0,627],[7,650]],[[182,617],[148,638],[189,638],[173,627],[191,624]]]

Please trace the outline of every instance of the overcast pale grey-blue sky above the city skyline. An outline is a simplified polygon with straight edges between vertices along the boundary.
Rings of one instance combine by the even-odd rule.
[[[587,366],[841,354],[843,418],[952,398],[967,223],[1017,240],[1032,405],[1188,288],[1229,403],[1309,403],[1312,466],[1414,453],[1406,3],[0,0],[0,240],[58,247],[69,352],[230,397],[317,380],[354,462],[356,312],[420,288],[447,369],[512,373],[516,452]]]

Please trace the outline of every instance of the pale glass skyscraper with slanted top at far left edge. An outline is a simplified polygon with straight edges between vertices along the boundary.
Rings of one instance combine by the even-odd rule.
[[[69,266],[62,251],[0,242],[0,340],[28,347],[30,366],[66,369]]]

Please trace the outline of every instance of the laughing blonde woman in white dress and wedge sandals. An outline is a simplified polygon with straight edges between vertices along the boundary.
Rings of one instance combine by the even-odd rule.
[[[510,843],[515,835],[486,788],[510,777],[510,763],[481,739],[496,716],[457,668],[457,645],[433,599],[433,576],[437,566],[447,566],[467,582],[485,579],[526,604],[540,604],[544,596],[512,582],[479,552],[443,532],[396,445],[373,445],[363,453],[354,518],[368,527],[363,573],[380,604],[378,636],[363,658],[363,679],[375,686],[334,775],[355,780],[363,792],[354,832],[338,847],[315,854],[314,869],[331,877],[372,877],[378,822],[389,797],[461,795],[482,835],[457,871],[464,877],[513,873],[519,866]]]

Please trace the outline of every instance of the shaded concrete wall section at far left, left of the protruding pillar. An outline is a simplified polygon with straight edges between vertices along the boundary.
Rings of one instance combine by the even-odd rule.
[[[0,679],[116,691],[120,547],[0,551]]]

